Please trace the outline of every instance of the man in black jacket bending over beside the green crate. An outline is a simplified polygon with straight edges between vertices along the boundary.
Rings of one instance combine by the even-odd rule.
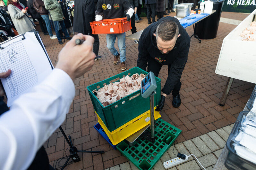
[[[137,66],[158,76],[163,65],[168,65],[168,77],[157,110],[164,107],[165,98],[172,92],[173,106],[181,104],[180,78],[188,59],[190,37],[174,17],[164,17],[151,24],[141,34]]]

